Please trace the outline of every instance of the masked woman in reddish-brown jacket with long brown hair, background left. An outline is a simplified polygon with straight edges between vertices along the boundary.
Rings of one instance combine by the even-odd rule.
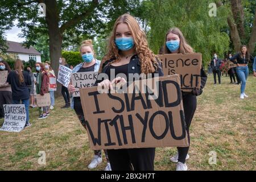
[[[36,94],[40,94],[43,96],[44,94],[49,92],[49,77],[47,75],[46,69],[44,69],[43,63],[36,63]],[[49,106],[43,106],[43,114],[42,109],[39,107],[39,117],[38,119],[47,118],[49,115]]]

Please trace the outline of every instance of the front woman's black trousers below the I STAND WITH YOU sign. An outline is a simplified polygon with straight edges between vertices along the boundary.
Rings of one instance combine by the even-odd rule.
[[[154,171],[155,148],[108,150],[112,171]]]

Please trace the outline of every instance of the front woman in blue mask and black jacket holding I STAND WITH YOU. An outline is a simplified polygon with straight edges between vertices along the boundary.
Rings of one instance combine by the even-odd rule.
[[[110,74],[111,70],[114,70],[115,75]],[[133,16],[124,14],[115,21],[108,53],[101,61],[99,73],[98,79],[103,75],[108,75],[109,78],[96,81],[98,88],[104,90],[113,89],[112,84],[129,81],[124,78],[128,78],[129,74],[157,73],[163,76],[160,62],[148,48],[146,34]],[[119,73],[123,77],[116,77]],[[114,79],[110,80],[112,77]],[[108,155],[113,171],[154,170],[155,148],[108,150]]]

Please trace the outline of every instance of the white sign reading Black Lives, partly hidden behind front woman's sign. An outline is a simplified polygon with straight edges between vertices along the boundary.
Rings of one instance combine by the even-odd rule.
[[[75,86],[76,92],[73,97],[80,97],[79,89],[94,86],[97,80],[98,72],[79,72],[72,73],[72,85]]]

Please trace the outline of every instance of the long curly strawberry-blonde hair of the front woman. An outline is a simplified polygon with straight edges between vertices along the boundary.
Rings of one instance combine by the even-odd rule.
[[[115,45],[115,31],[117,26],[120,23],[126,23],[129,27],[131,34],[134,39],[134,49],[135,53],[138,55],[139,60],[141,61],[141,72],[142,73],[154,73],[157,69],[158,62],[156,61],[157,57],[154,53],[148,48],[148,43],[146,39],[145,32],[139,27],[137,20],[129,15],[123,14],[115,21],[112,35],[109,38],[108,53],[103,57],[101,61],[100,71],[102,71],[102,65],[110,60],[115,59],[112,63],[120,61],[120,51]]]

